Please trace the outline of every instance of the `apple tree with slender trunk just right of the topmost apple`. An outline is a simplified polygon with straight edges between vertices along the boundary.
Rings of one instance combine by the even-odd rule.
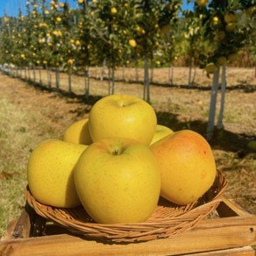
[[[161,34],[167,34],[173,29],[181,1],[144,0],[137,2],[134,41],[136,52],[144,60],[143,98],[150,102],[148,62],[153,62],[155,54],[160,52]],[[168,48],[172,48],[171,41],[168,43]]]

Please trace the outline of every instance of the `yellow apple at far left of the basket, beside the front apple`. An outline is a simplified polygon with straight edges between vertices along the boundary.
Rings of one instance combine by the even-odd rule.
[[[28,187],[40,203],[61,208],[81,205],[75,190],[74,167],[87,146],[59,139],[41,141],[27,165]]]

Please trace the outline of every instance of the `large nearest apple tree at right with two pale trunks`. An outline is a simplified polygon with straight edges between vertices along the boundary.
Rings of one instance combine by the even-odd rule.
[[[213,74],[207,139],[212,139],[214,132],[220,68],[222,67],[222,93],[217,128],[223,129],[225,68],[227,64],[231,65],[238,60],[238,51],[245,47],[253,31],[252,17],[245,15],[245,8],[249,8],[253,1],[247,1],[246,7],[245,2],[212,0],[207,8],[200,7],[205,16],[203,18],[204,39],[211,42],[209,53],[204,55],[204,67],[208,75]]]

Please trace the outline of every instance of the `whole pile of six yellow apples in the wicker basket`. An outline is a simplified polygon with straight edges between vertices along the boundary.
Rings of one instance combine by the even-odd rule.
[[[195,202],[212,186],[216,163],[197,132],[173,132],[157,123],[153,107],[136,96],[105,96],[63,139],[36,146],[28,186],[40,202],[58,208],[82,204],[96,223],[145,222],[160,196]]]

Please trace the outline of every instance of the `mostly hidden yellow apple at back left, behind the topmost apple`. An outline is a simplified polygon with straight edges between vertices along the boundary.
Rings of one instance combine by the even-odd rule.
[[[92,139],[89,134],[89,118],[83,118],[68,126],[64,132],[63,140],[66,142],[90,145]]]

